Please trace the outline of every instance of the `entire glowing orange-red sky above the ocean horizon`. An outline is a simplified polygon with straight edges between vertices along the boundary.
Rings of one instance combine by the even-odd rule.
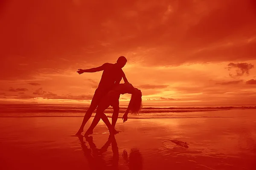
[[[102,72],[77,69],[123,55],[144,105],[256,104],[255,21],[254,0],[2,0],[0,103],[90,103]]]

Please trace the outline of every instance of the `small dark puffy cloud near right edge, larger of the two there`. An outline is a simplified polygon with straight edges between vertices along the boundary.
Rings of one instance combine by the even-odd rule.
[[[227,69],[230,71],[231,69],[233,69],[233,68],[238,68],[238,69],[236,69],[236,74],[234,75],[234,74],[229,74],[230,75],[230,77],[239,77],[239,76],[243,76],[244,75],[244,73],[246,73],[246,74],[249,74],[249,71],[250,71],[250,69],[252,69],[252,68],[254,68],[254,65],[252,65],[252,64],[248,64],[248,63],[246,63],[246,62],[243,62],[243,63],[237,63],[237,64],[235,64],[235,63],[233,63],[233,62],[230,62],[228,65],[227,65],[228,67],[227,67]]]

